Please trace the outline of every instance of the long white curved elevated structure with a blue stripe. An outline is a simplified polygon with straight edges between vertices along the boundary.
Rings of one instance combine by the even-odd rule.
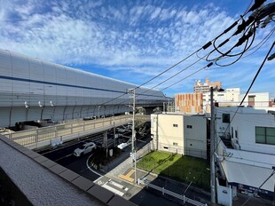
[[[0,50],[0,128],[129,111],[137,85]],[[136,89],[136,104],[158,105],[161,91]]]

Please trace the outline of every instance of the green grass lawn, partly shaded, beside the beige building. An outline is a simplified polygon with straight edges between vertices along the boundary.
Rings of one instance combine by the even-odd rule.
[[[137,166],[186,183],[192,181],[204,189],[209,188],[210,172],[206,170],[208,162],[200,158],[154,151],[138,161]]]

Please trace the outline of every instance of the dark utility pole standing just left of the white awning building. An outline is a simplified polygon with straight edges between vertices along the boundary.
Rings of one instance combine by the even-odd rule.
[[[211,202],[216,204],[216,171],[215,171],[215,116],[214,116],[214,102],[213,102],[213,87],[210,88],[210,99],[211,99],[211,122],[210,122],[210,173],[211,173]]]

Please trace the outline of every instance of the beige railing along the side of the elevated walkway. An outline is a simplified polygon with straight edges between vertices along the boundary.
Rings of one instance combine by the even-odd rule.
[[[34,130],[9,133],[4,136],[22,146],[35,148],[38,147],[39,142],[47,141],[47,144],[51,144],[51,141],[55,139],[59,141],[67,140],[68,137],[75,139],[79,138],[79,136],[92,133],[91,131],[99,132],[100,129],[106,130],[124,123],[130,123],[131,117],[131,115],[121,115],[77,123],[57,124]]]

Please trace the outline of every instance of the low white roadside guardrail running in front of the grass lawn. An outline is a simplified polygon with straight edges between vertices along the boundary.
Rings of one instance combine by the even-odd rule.
[[[198,201],[194,201],[193,199],[190,199],[190,198],[186,197],[185,195],[177,194],[172,191],[169,191],[169,190],[165,189],[164,187],[155,186],[155,185],[151,184],[148,180],[143,180],[143,179],[138,178],[138,185],[140,185],[140,184],[145,185],[146,188],[151,187],[155,190],[158,190],[162,193],[162,195],[169,194],[170,196],[176,197],[177,199],[182,200],[184,203],[188,202],[195,206],[207,206],[208,205],[207,203],[201,203]]]

